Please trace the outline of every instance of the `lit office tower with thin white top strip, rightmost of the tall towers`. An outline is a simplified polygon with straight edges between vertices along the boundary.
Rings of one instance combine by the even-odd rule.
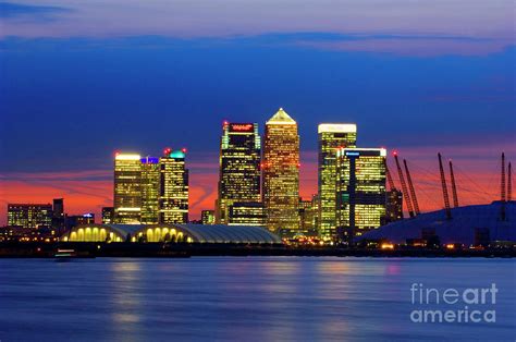
[[[337,151],[336,222],[339,237],[353,237],[381,225],[385,217],[384,148]]]

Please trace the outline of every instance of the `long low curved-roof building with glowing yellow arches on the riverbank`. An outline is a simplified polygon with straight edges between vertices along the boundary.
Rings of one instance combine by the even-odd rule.
[[[202,224],[85,224],[61,237],[70,242],[186,242],[282,244],[281,239],[260,227]]]

